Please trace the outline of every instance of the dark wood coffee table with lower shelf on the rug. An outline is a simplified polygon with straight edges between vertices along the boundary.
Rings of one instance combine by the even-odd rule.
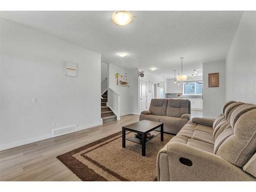
[[[142,120],[136,123],[132,123],[129,125],[125,125],[122,127],[122,147],[125,148],[125,140],[129,140],[138,144],[142,145],[142,156],[146,156],[146,142],[150,141],[151,139],[154,139],[157,135],[154,135],[152,138],[147,138],[147,133],[150,133],[151,131],[157,129],[158,127],[161,127],[161,141],[163,141],[163,123],[156,122],[156,121],[148,121],[148,120]],[[135,137],[134,135],[127,137],[125,139],[125,131],[131,131],[135,133],[139,133],[142,135],[142,138],[139,139]]]

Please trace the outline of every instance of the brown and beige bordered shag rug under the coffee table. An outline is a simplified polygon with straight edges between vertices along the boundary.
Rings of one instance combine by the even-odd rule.
[[[129,132],[126,137],[134,134]],[[122,133],[118,132],[57,158],[82,181],[156,181],[157,154],[173,136],[164,134],[161,142],[159,135],[147,142],[145,157],[137,143],[126,140],[122,148]]]

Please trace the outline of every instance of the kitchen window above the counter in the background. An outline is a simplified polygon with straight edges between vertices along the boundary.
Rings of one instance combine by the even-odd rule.
[[[202,95],[203,81],[183,82],[183,95]]]

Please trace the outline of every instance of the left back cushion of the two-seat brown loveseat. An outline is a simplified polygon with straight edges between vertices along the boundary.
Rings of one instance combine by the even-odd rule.
[[[152,115],[166,115],[168,99],[151,99],[150,111]]]

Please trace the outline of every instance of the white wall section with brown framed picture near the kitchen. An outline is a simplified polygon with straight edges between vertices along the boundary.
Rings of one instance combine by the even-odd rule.
[[[208,87],[208,74],[219,73],[219,87]],[[216,118],[225,104],[225,61],[203,63],[203,117]]]

